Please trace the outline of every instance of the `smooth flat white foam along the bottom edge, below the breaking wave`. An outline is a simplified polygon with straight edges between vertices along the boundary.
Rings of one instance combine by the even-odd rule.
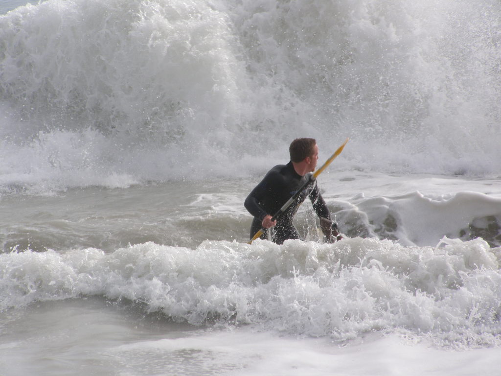
[[[125,344],[111,353],[122,357],[130,367],[134,360],[126,359],[137,354],[156,359],[178,359],[184,354],[185,361],[196,361],[205,370],[226,371],[238,376],[388,373],[417,376],[436,372],[467,376],[495,372],[499,349],[483,349],[481,353],[442,351],[398,335],[367,335],[359,343],[341,347],[324,340],[298,341],[297,338],[276,337],[241,328]],[[183,363],[178,361],[177,367],[182,367]]]

